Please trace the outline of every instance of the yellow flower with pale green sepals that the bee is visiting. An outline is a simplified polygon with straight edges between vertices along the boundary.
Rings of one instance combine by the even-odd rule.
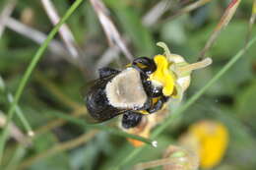
[[[211,65],[212,59],[205,58],[200,62],[189,64],[182,56],[170,53],[165,43],[158,42],[157,45],[164,52],[162,55],[156,55],[154,57],[157,71],[150,76],[149,80],[153,84],[162,85],[162,93],[165,96],[181,99],[184,91],[190,85],[192,71]]]

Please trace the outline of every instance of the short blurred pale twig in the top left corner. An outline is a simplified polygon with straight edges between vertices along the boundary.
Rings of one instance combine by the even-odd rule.
[[[4,10],[2,11],[2,14],[0,14],[0,38],[4,32],[4,29],[6,27],[6,23],[8,22],[8,18],[11,16],[14,8],[16,5],[16,0],[10,0]]]

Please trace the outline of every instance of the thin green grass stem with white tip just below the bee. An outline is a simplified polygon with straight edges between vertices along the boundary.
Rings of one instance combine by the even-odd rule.
[[[67,120],[69,122],[72,122],[74,124],[80,125],[84,128],[94,128],[94,129],[109,132],[111,134],[115,134],[115,135],[118,135],[118,136],[121,136],[121,137],[134,139],[134,140],[137,140],[137,141],[140,141],[140,142],[145,142],[145,143],[148,143],[150,145],[156,146],[155,145],[156,141],[152,141],[151,139],[146,139],[146,138],[142,138],[140,136],[135,136],[135,135],[132,135],[132,134],[128,134],[128,133],[125,133],[123,131],[119,131],[119,130],[116,130],[114,128],[110,128],[110,127],[107,127],[107,126],[102,126],[102,125],[98,125],[98,124],[89,124],[89,123],[86,123],[84,120],[81,120],[81,119],[78,119],[78,118],[63,114],[63,113],[59,113],[59,112],[51,112],[50,114],[53,115],[53,116],[62,118],[64,120]]]

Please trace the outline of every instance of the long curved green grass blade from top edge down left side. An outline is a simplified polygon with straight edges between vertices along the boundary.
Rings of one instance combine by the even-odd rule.
[[[46,50],[48,44],[50,43],[51,39],[53,39],[54,35],[58,32],[59,28],[66,22],[66,20],[75,12],[75,10],[79,7],[79,5],[83,2],[83,0],[76,0],[73,5],[68,9],[64,17],[60,20],[60,22],[50,31],[47,38],[44,40],[42,45],[38,48],[36,51],[34,57],[32,58],[32,62],[30,63],[27,71],[25,72],[22,81],[20,85],[18,86],[18,89],[15,93],[14,102],[12,102],[11,107],[8,111],[8,117],[7,117],[7,123],[4,127],[4,130],[1,134],[0,138],[0,164],[3,156],[4,146],[8,139],[9,135],[9,123],[13,118],[14,111],[16,108],[16,105],[18,104],[19,99],[21,98],[21,95],[24,91],[25,86],[27,85],[31,75],[32,71],[35,68],[36,64],[38,63],[39,59],[41,58],[43,52]]]

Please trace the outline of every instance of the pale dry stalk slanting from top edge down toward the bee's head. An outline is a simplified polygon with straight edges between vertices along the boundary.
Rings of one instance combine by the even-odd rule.
[[[113,45],[118,46],[120,50],[123,52],[123,54],[125,55],[125,57],[129,60],[132,60],[133,59],[132,54],[126,47],[117,28],[115,28],[113,22],[107,16],[108,11],[105,8],[104,4],[100,0],[90,0],[90,2],[96,11],[96,15],[98,17],[98,20],[102,28],[104,29],[104,32],[106,34],[106,37],[108,39],[110,46],[113,46]]]

